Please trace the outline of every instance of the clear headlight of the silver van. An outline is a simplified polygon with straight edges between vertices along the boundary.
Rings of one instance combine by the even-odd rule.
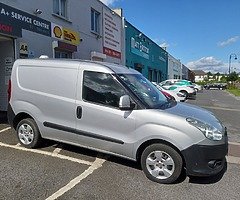
[[[189,124],[198,128],[209,140],[221,140],[223,137],[221,131],[209,124],[206,124],[194,118],[187,118],[186,120]]]

